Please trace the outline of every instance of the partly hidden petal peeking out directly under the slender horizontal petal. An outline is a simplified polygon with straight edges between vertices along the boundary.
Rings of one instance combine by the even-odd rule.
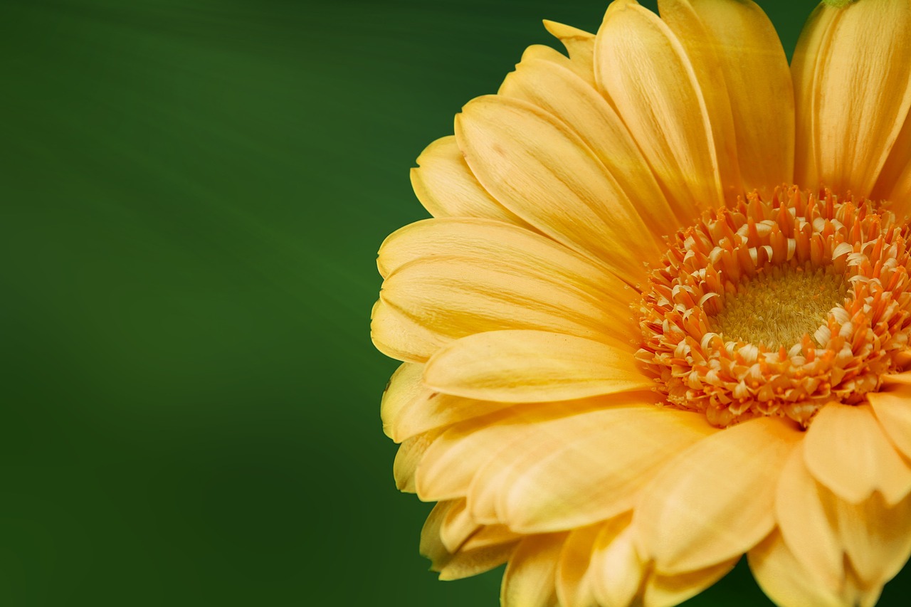
[[[424,386],[424,365],[404,363],[383,393],[380,415],[386,436],[400,443],[415,435],[486,416],[513,403],[496,403],[441,394]],[[444,428],[445,429],[445,428]]]

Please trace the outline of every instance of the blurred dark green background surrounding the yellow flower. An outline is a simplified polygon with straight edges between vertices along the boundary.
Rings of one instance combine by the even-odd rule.
[[[790,52],[811,3],[762,5]],[[0,6],[0,604],[495,605],[394,489],[375,252],[540,19],[605,3]],[[732,602],[769,604],[744,567],[691,604]]]

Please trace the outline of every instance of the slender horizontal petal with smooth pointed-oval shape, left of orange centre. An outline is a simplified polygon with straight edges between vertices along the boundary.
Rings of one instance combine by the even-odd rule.
[[[623,345],[545,331],[491,331],[439,350],[424,372],[427,386],[511,403],[568,400],[649,389]]]

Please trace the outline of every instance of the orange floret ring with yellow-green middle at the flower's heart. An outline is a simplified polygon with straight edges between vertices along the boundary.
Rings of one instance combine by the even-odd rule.
[[[861,402],[911,334],[907,237],[870,201],[753,193],[678,232],[642,289],[637,357],[669,406],[719,427]]]

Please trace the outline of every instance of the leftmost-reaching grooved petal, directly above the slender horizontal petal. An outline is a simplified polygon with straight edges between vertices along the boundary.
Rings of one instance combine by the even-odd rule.
[[[605,333],[630,335],[606,330],[612,324],[635,327],[629,308],[618,318],[609,299],[578,288],[566,273],[551,272],[543,259],[532,267],[535,261],[446,256],[400,267],[383,283],[371,325],[374,343],[424,362],[441,345],[486,331],[533,329],[596,340],[609,340]],[[622,344],[632,351],[629,341]]]

